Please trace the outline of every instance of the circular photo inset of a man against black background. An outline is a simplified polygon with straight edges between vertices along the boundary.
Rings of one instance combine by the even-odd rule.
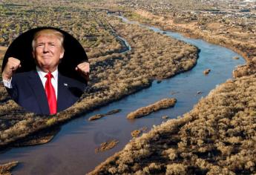
[[[88,57],[70,34],[53,27],[22,33],[4,55],[2,79],[25,110],[51,115],[69,108],[88,83]]]

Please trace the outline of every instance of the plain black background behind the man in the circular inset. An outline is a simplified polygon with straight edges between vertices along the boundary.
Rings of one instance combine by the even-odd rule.
[[[22,67],[20,67],[16,72],[22,73],[30,70],[34,70],[36,67],[36,63],[32,56],[32,41],[34,34],[43,29],[53,29],[61,32],[64,39],[64,48],[65,54],[61,63],[58,66],[59,73],[62,73],[63,76],[68,76],[72,79],[79,80],[79,82],[85,82],[85,79],[79,75],[79,73],[75,70],[76,65],[79,65],[81,62],[88,62],[88,57],[85,53],[82,45],[69,33],[64,30],[60,30],[55,27],[38,27],[33,28],[31,30],[27,30],[18,36],[8,47],[4,60],[2,63],[1,72],[4,70],[4,66],[7,63],[9,57],[14,57],[21,61]]]

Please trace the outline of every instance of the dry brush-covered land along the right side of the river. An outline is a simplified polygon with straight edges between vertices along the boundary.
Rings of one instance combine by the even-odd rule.
[[[254,174],[255,2],[225,10],[225,4],[215,4],[215,10],[182,10],[178,5],[180,10],[169,11],[143,2],[125,16],[229,47],[247,63],[189,113],[134,139],[91,174]]]

